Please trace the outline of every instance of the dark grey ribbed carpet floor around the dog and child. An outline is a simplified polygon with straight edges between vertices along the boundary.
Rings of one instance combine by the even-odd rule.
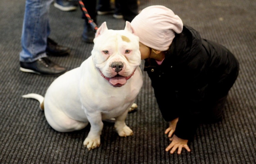
[[[224,119],[198,127],[191,152],[170,154],[164,135],[168,123],[160,114],[151,81],[143,72],[139,108],[126,124],[134,135],[119,137],[113,123],[104,123],[100,147],[87,150],[83,141],[90,126],[61,133],[47,123],[39,103],[23,99],[27,93],[44,95],[56,76],[19,70],[25,0],[0,1],[0,163],[41,164],[254,164],[256,161],[256,1],[255,0],[140,0],[139,9],[165,5],[198,30],[202,38],[216,41],[234,53],[240,72],[230,90]],[[71,70],[90,56],[93,44],[81,40],[84,20],[80,8],[63,12],[50,8],[50,38],[71,48],[66,57],[50,57]],[[98,16],[98,25],[120,30],[124,20]],[[143,61],[141,68],[143,67]],[[175,80],[175,79],[170,79]],[[168,83],[168,82],[166,82]],[[171,100],[170,100],[170,103]]]

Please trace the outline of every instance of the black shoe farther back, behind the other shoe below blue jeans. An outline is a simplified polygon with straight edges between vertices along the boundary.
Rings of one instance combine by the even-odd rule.
[[[58,45],[52,39],[47,38],[47,46],[45,52],[47,55],[51,56],[66,56],[69,55],[70,49],[68,47]]]

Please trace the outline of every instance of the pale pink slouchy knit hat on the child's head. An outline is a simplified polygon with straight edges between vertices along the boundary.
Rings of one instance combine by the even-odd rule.
[[[176,33],[181,33],[183,23],[178,15],[164,6],[149,6],[131,22],[139,41],[155,50],[169,49]]]

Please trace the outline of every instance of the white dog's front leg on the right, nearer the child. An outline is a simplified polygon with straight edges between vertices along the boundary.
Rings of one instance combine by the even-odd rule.
[[[125,118],[127,116],[128,110],[124,112],[122,115],[116,117],[115,120],[115,129],[118,133],[119,136],[121,137],[126,137],[129,135],[133,135],[132,129],[130,129],[126,124],[125,124]]]

